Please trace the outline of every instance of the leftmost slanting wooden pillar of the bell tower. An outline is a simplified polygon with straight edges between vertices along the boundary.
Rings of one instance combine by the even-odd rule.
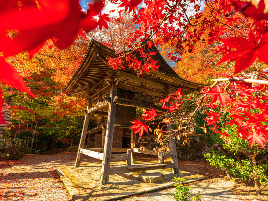
[[[87,136],[87,128],[88,128],[88,122],[89,122],[89,117],[90,117],[90,114],[88,114],[88,109],[91,108],[91,106],[92,106],[92,101],[89,99],[88,104],[87,104],[87,111],[85,113],[83,130],[82,130],[82,134],[81,134],[81,138],[80,138],[80,142],[79,142],[79,147],[78,147],[78,151],[77,151],[77,156],[76,156],[76,160],[75,160],[75,167],[79,167],[80,163],[81,163],[82,154],[79,151],[80,151],[80,149],[83,149],[84,145],[85,145],[85,137]]]

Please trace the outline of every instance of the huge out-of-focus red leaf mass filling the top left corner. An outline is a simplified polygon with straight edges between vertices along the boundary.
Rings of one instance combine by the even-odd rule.
[[[38,3],[41,9],[34,4],[25,4],[21,10],[12,9],[0,14],[0,52],[4,52],[5,56],[24,50],[37,52],[53,36],[58,38],[59,48],[66,48],[80,28],[88,32],[96,27],[96,23],[89,22],[103,7],[102,1],[98,1],[85,14],[79,3],[73,0],[40,0]],[[7,37],[7,30],[18,30],[18,37]]]

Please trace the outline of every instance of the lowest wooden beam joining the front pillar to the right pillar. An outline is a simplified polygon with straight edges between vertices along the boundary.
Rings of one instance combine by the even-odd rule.
[[[174,163],[166,163],[165,166],[142,167],[142,168],[139,168],[139,169],[135,169],[135,172],[146,171],[146,170],[167,169],[167,168],[174,168]],[[109,175],[123,174],[123,173],[128,173],[128,172],[133,172],[133,170],[126,169],[125,166],[122,166],[122,167],[110,167]]]

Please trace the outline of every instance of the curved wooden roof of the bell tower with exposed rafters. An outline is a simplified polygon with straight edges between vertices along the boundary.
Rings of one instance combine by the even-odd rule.
[[[108,57],[116,57],[116,52],[92,39],[82,63],[62,92],[91,100],[98,98],[99,94],[109,95],[110,86],[107,81],[111,79],[111,74],[116,74],[119,80],[118,89],[148,94],[154,97],[154,101],[180,88],[184,93],[191,93],[206,86],[180,78],[156,47],[148,48],[147,51],[156,52],[151,57],[158,61],[159,70],[137,78],[134,69],[112,70],[106,61]]]

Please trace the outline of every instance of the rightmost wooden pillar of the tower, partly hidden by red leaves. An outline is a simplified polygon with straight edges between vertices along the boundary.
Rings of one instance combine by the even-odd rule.
[[[167,106],[169,106],[169,105],[167,105]],[[169,119],[170,117],[171,117],[171,114],[168,113],[166,115],[166,118]],[[176,143],[175,143],[175,135],[174,135],[172,123],[167,127],[167,131],[168,131],[168,135],[169,135],[168,139],[169,139],[170,151],[173,153],[173,158],[171,158],[171,162],[174,163],[174,168],[172,168],[172,172],[175,174],[178,174],[178,173],[180,173],[180,171],[179,171],[178,156],[177,156],[177,149],[176,149]]]

